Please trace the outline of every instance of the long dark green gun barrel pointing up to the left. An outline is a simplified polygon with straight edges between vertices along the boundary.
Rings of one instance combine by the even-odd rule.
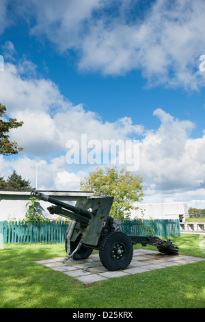
[[[42,199],[44,201],[49,201],[49,202],[53,203],[56,206],[60,206],[60,207],[62,207],[64,209],[66,209],[66,210],[70,210],[71,212],[74,212],[74,214],[86,217],[87,219],[92,218],[92,215],[93,215],[92,212],[90,212],[88,210],[85,210],[85,209],[82,209],[81,207],[76,207],[76,206],[69,205],[68,203],[65,203],[63,201],[59,201],[59,200],[57,200],[55,198],[49,197],[47,195],[44,195],[44,193],[40,193],[39,191],[36,191],[36,190],[31,191],[31,196],[32,197],[37,197],[37,198]],[[74,216],[72,216],[72,217],[74,218]]]

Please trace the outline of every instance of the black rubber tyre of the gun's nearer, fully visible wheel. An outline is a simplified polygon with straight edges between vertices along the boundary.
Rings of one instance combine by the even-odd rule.
[[[124,256],[120,260],[113,258],[111,251],[117,244],[123,245],[125,251]],[[133,258],[133,244],[123,232],[111,232],[102,240],[99,250],[100,261],[108,271],[118,271],[119,269],[126,269]]]

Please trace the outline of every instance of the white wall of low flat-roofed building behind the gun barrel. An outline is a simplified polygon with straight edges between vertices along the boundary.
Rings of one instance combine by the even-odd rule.
[[[28,210],[26,207],[31,191],[29,190],[0,190],[0,221],[18,221],[25,218]],[[42,191],[44,195],[49,195],[60,201],[74,205],[79,198],[92,197],[93,193],[83,191]],[[50,219],[59,218],[57,215],[49,214],[47,207],[51,203],[39,200],[42,213]],[[64,219],[66,220],[66,219]]]

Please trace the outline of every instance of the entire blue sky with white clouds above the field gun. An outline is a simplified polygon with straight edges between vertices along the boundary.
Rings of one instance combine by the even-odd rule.
[[[24,151],[0,176],[35,186],[38,160],[38,188],[78,190],[96,165],[68,164],[68,140],[138,140],[144,202],[205,207],[204,18],[201,0],[1,1],[0,103]]]

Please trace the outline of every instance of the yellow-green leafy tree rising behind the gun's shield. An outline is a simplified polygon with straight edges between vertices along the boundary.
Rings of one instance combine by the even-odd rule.
[[[128,219],[133,203],[143,199],[142,178],[124,169],[97,168],[81,182],[81,190],[92,190],[94,195],[114,197],[110,216],[115,219]]]

